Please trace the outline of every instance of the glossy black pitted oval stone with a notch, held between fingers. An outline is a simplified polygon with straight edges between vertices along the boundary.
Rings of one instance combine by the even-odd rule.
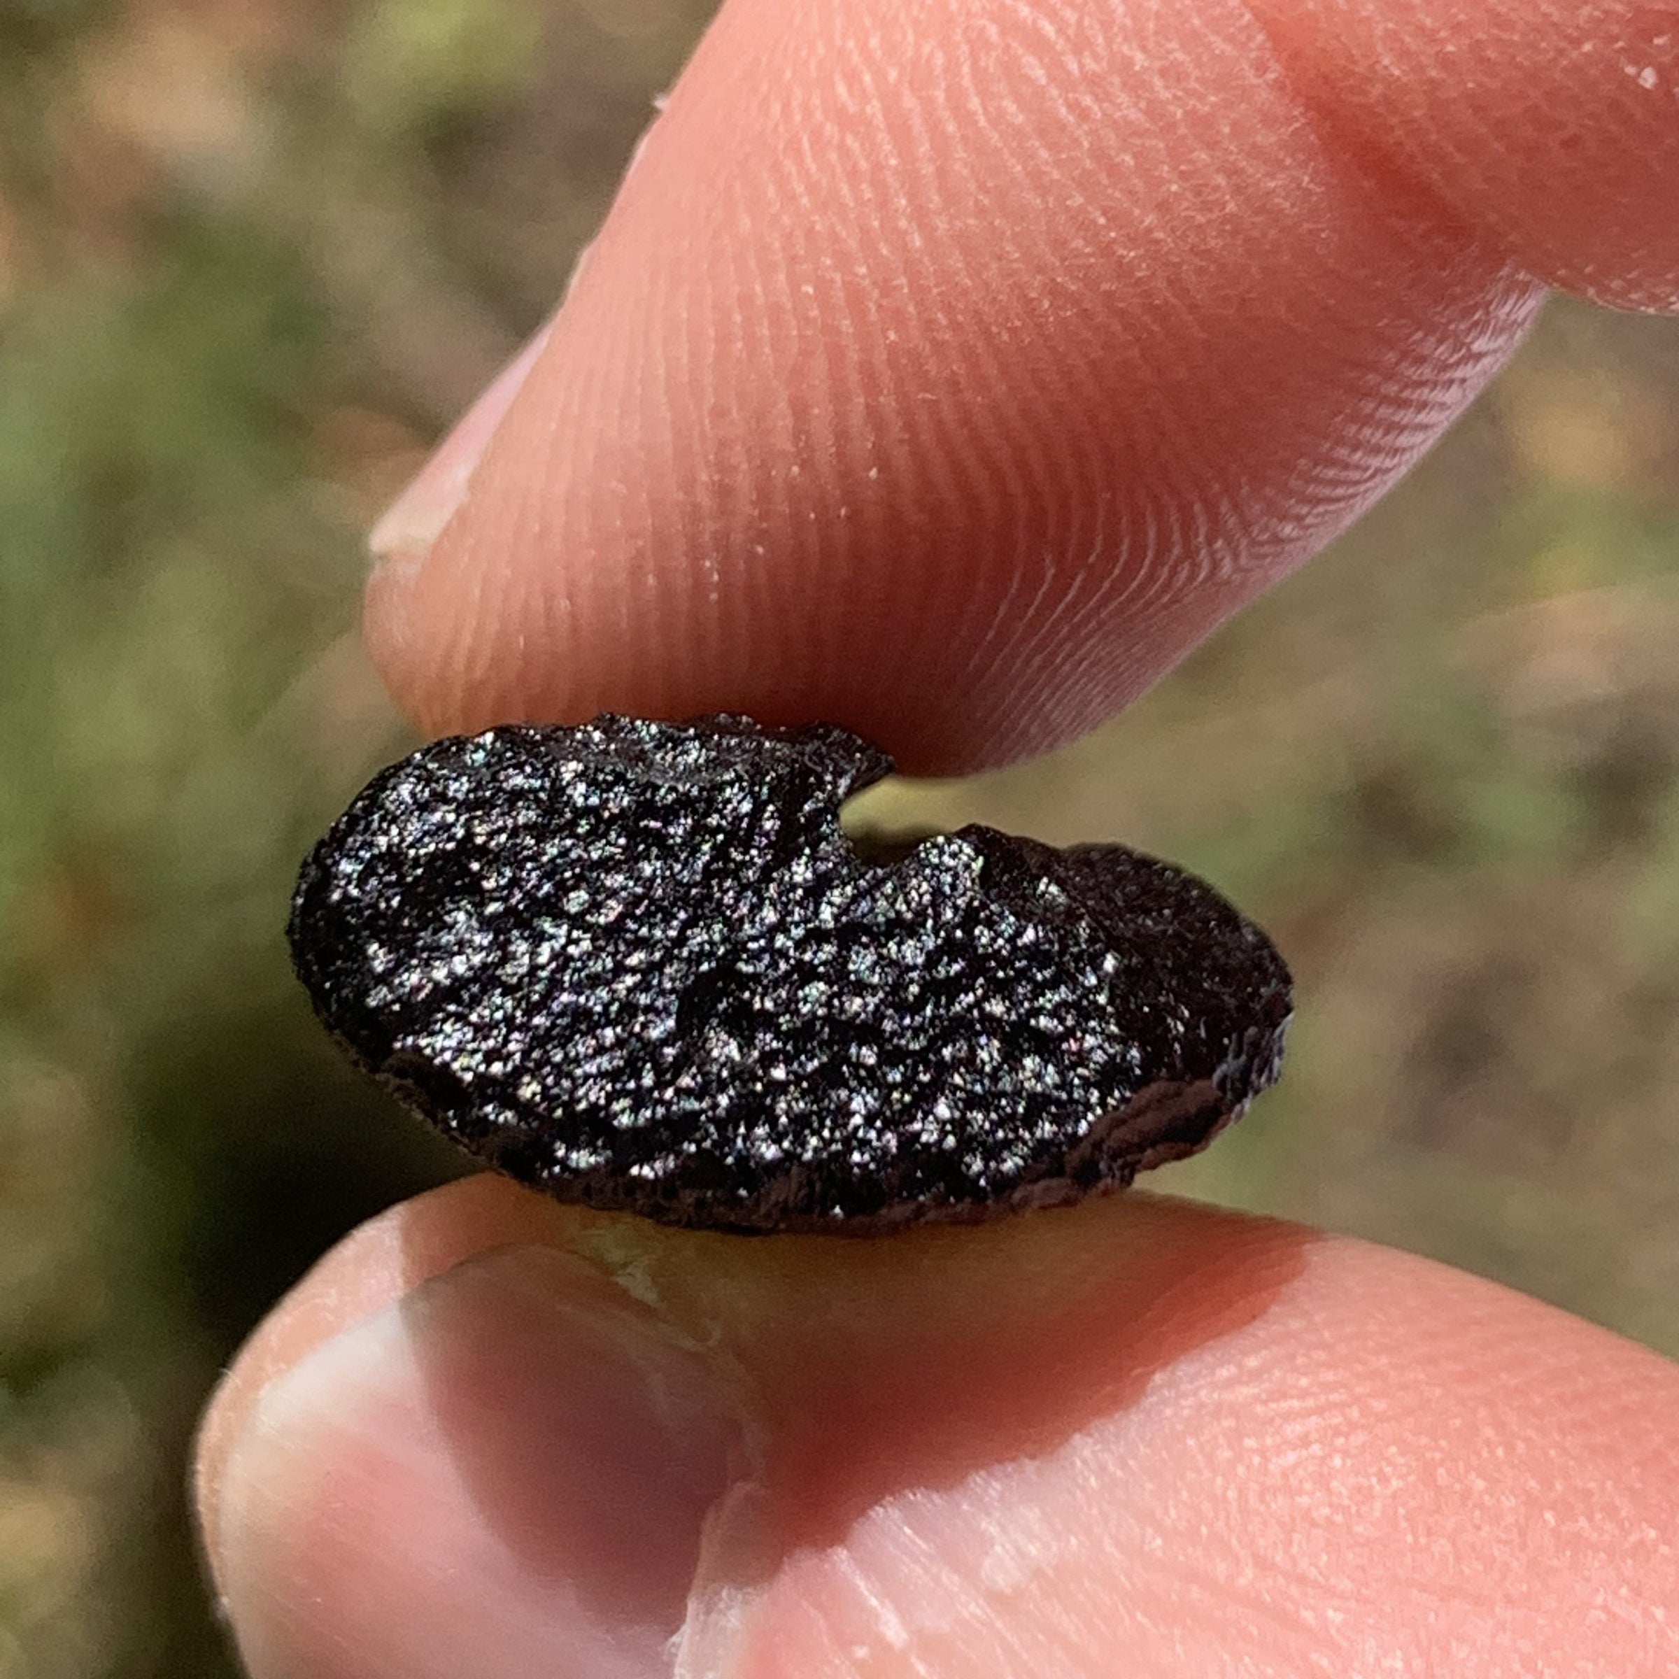
[[[1288,969],[1207,885],[989,828],[866,861],[840,804],[890,767],[739,717],[442,740],[304,865],[297,972],[472,1153],[714,1229],[1071,1200],[1276,1078]]]

